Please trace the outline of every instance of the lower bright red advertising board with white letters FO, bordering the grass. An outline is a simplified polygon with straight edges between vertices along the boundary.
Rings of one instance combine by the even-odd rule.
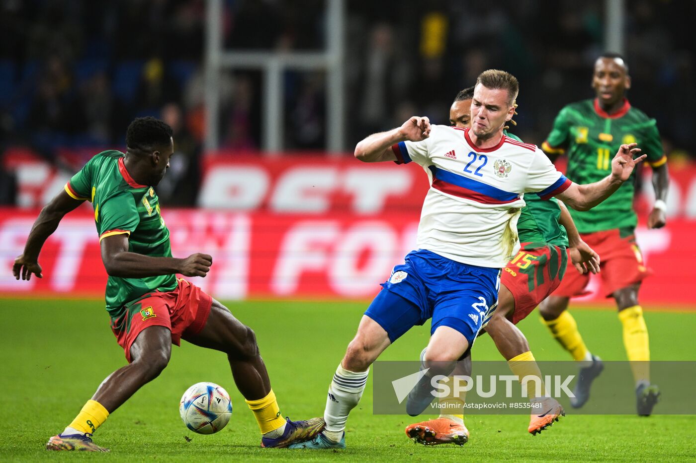
[[[102,296],[101,263],[93,214],[80,208],[63,219],[40,256],[44,278],[17,282],[10,273],[38,211],[0,209],[0,295]],[[417,211],[363,216],[163,211],[175,255],[206,252],[214,258],[205,278],[191,281],[221,299],[369,299],[415,243]],[[638,229],[654,270],[641,289],[646,307],[692,304],[686,261],[696,256],[695,222]],[[603,301],[599,280],[587,300]]]

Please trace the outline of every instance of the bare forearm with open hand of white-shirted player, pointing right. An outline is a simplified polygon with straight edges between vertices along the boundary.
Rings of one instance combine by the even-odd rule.
[[[594,184],[571,184],[556,197],[576,211],[589,211],[618,190],[619,186],[631,177],[635,165],[645,159],[645,154],[633,159],[633,156],[640,153],[640,148],[636,146],[636,143],[621,145],[611,161],[611,174],[604,179]]]

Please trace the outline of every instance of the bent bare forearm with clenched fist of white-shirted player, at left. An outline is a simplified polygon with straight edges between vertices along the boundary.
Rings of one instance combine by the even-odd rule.
[[[363,138],[355,147],[355,157],[365,163],[396,161],[391,147],[402,141],[421,141],[430,136],[430,120],[427,117],[413,116],[401,127],[390,131],[373,133]]]

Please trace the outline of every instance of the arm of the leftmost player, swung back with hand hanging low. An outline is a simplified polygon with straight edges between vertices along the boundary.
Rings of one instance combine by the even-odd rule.
[[[16,279],[20,277],[27,280],[31,279],[32,273],[39,278],[43,277],[41,266],[38,263],[41,248],[48,237],[56,231],[65,214],[83,202],[84,200],[75,200],[68,193],[65,193],[65,190],[62,190],[41,209],[41,213],[31,227],[29,238],[26,238],[24,253],[15,259],[15,264],[12,267],[12,273]]]

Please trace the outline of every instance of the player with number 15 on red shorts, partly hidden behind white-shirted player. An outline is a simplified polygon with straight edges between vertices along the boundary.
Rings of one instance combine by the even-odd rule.
[[[473,93],[473,87],[465,88],[454,98],[450,107],[451,125],[471,127]],[[516,125],[514,120],[509,122]],[[522,141],[512,133],[503,133],[509,138]],[[597,254],[582,241],[568,210],[562,203],[553,197],[550,200],[541,200],[535,194],[525,195],[524,199],[527,205],[523,207],[517,221],[521,249],[503,269],[500,276],[498,307],[484,328],[496,343],[500,354],[509,362],[513,373],[520,377],[530,372],[533,375],[539,368],[527,339],[515,325],[528,316],[560,284],[567,266],[566,249],[569,248],[569,243],[572,244],[569,248],[571,261],[580,273],[588,270],[596,273],[599,270]],[[452,375],[471,375],[469,353],[461,359]],[[422,413],[433,398],[428,388],[414,391],[416,393],[409,396],[411,400],[406,405],[406,411],[413,416]],[[422,396],[422,399],[418,396]],[[454,398],[441,400],[449,404],[454,401]],[[460,404],[463,406],[464,400],[455,405]],[[412,409],[409,409],[411,407]],[[425,445],[466,443],[469,433],[464,426],[461,408],[455,409],[454,413],[452,409],[442,410],[437,419],[406,426],[406,435]],[[539,412],[532,412],[528,431],[532,434],[541,432],[562,413],[560,405],[557,405],[555,414],[541,418]]]

